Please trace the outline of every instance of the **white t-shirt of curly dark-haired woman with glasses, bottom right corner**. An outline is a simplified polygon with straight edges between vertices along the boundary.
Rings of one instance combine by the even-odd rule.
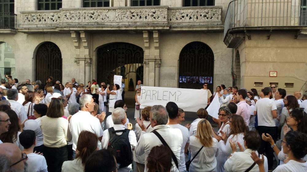
[[[273,172],[303,172],[307,171],[307,162],[299,163],[294,160],[290,160],[288,163],[279,165]]]

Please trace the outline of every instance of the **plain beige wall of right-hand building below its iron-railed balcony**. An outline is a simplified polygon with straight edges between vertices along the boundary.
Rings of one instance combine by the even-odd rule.
[[[270,39],[263,31],[252,32],[251,39],[245,39],[236,49],[240,54],[241,87],[250,90],[270,86],[277,82],[287,94],[307,89],[307,40],[295,39],[294,31],[273,31]],[[277,77],[270,77],[270,71],[277,71]],[[254,86],[263,82],[263,86]],[[285,83],[294,83],[285,87]]]

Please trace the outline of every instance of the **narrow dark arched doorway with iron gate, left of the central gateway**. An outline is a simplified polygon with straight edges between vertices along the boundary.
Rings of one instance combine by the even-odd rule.
[[[35,78],[45,83],[52,76],[54,81],[62,82],[62,54],[53,42],[41,44],[35,56]]]

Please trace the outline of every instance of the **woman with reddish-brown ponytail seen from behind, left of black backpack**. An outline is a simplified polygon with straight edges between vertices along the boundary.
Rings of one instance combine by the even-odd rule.
[[[81,131],[79,134],[76,159],[65,161],[62,165],[62,171],[84,172],[85,162],[88,157],[97,149],[98,137],[89,131]]]

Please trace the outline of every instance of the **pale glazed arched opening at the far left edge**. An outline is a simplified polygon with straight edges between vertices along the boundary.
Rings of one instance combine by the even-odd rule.
[[[0,78],[5,79],[6,75],[15,78],[15,55],[10,44],[0,42]]]

